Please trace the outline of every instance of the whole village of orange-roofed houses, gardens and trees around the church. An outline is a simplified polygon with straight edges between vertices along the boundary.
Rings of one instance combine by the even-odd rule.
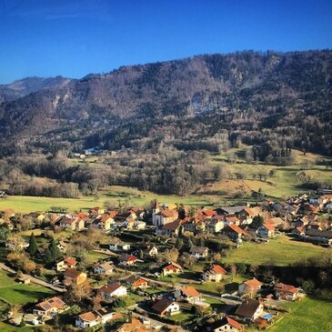
[[[0,291],[1,320],[36,331],[60,323],[65,331],[267,329],[294,315],[287,303],[303,301],[310,282],[276,276],[272,257],[267,267],[224,257],[246,243],[259,250],[283,238],[330,253],[332,220],[324,216],[331,211],[330,190],[246,206],[154,200],[73,214],[6,210],[1,286],[38,285],[48,293],[17,307],[6,306],[11,301]]]

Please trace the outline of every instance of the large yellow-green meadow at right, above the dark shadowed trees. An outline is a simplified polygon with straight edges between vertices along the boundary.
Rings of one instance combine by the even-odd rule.
[[[331,252],[331,249],[297,242],[291,237],[281,235],[264,244],[245,242],[224,257],[223,262],[284,267],[298,262],[304,263],[309,258],[321,257],[328,252]]]

